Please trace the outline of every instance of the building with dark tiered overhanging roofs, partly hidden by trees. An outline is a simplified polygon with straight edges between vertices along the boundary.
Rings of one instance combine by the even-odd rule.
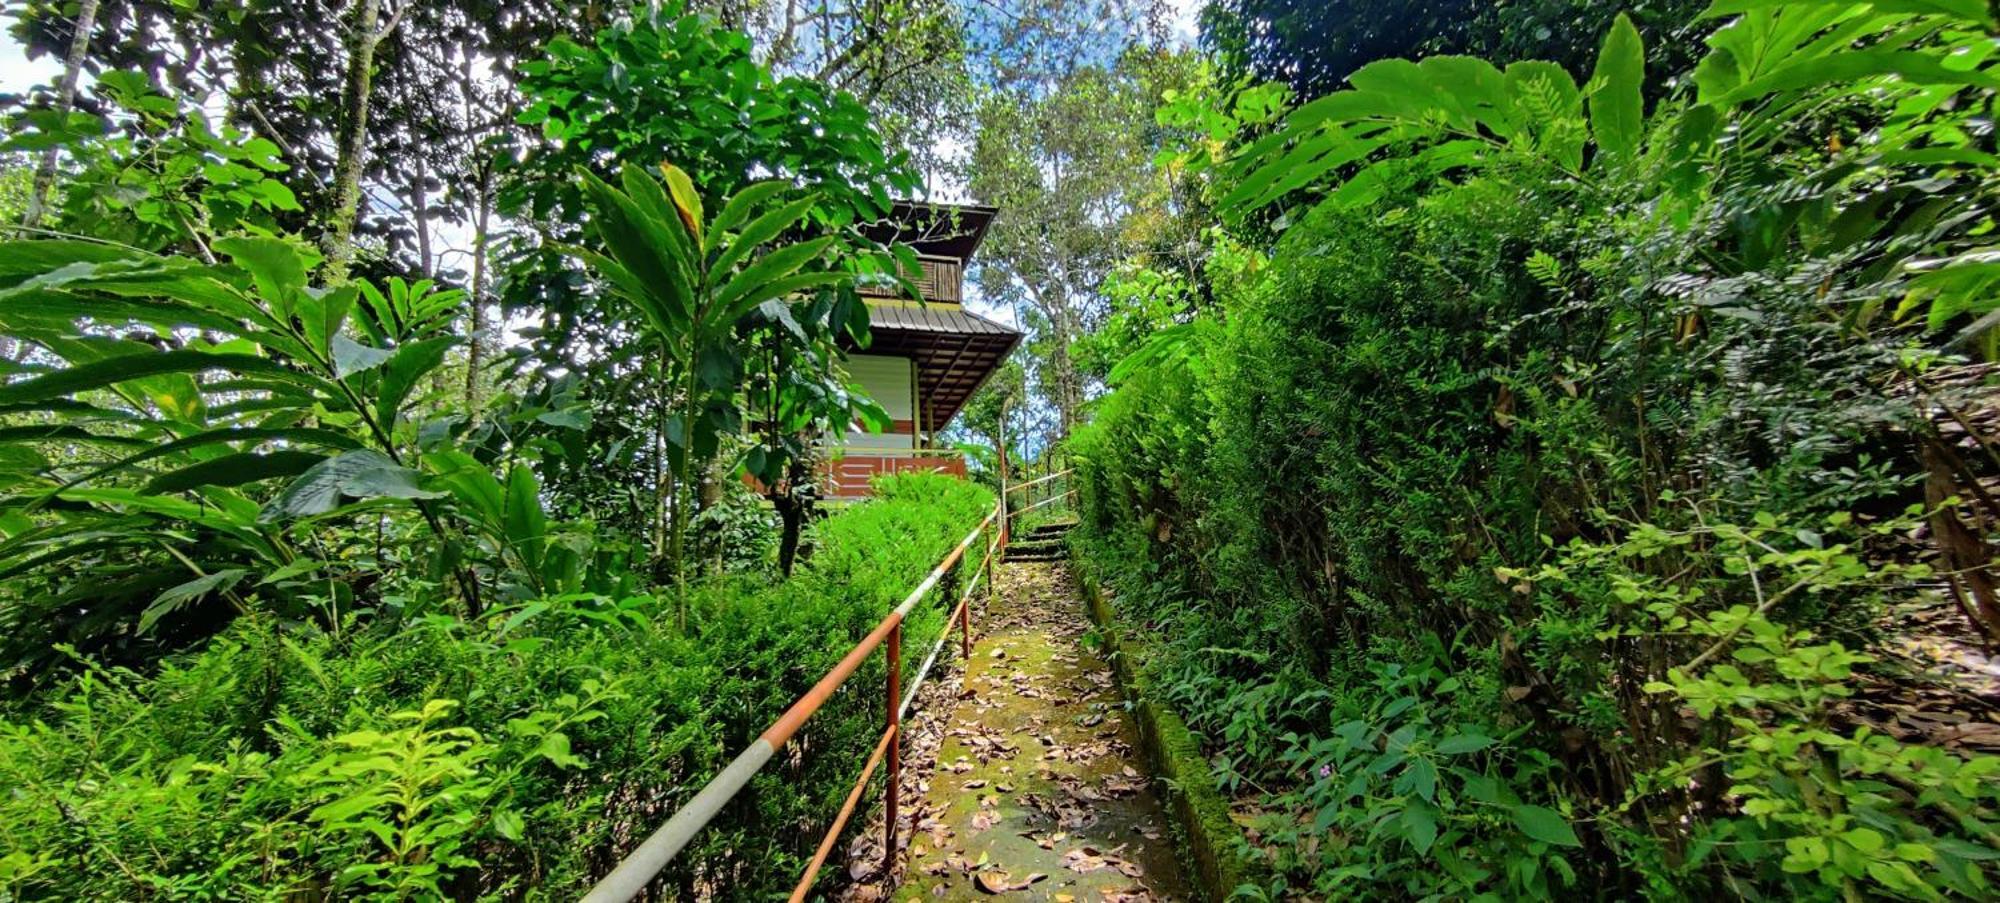
[[[848,372],[894,424],[882,434],[858,426],[848,432],[830,455],[830,497],[866,495],[876,473],[966,473],[964,455],[938,448],[936,436],[1020,344],[1020,332],[964,308],[966,264],[994,214],[980,206],[906,202],[874,226],[874,238],[916,250],[922,272],[910,276],[924,300],[864,292],[872,342],[852,350]]]

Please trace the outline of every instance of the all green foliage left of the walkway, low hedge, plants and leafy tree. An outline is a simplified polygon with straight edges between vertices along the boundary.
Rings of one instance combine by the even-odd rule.
[[[912,186],[868,110],[678,8],[600,36],[522,62],[528,154],[476,152],[584,324],[504,372],[242,108],[140,68],[12,122],[62,166],[0,242],[0,897],[574,897],[988,511],[910,475],[812,521],[818,440],[882,422],[856,290],[914,270],[860,234]],[[788,883],[878,717],[838,695],[662,887]]]

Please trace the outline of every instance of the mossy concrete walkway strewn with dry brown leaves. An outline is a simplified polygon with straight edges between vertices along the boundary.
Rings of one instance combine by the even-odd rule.
[[[1002,565],[974,625],[970,673],[908,725],[894,899],[1190,899],[1066,565]]]

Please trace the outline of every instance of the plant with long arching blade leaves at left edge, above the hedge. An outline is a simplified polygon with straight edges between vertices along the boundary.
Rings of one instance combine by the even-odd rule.
[[[458,294],[318,290],[278,238],[214,250],[224,264],[0,244],[0,332],[30,372],[0,386],[0,623],[16,627],[0,671],[32,669],[48,641],[140,641],[204,599],[296,601],[326,565],[298,549],[302,521],[414,503],[426,545],[446,545],[410,414],[456,342]],[[274,479],[290,483],[258,489]],[[476,605],[440,559],[452,571]]]

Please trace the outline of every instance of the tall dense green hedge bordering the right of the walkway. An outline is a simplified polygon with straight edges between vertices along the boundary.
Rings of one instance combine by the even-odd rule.
[[[1498,170],[1218,242],[1214,308],[1074,438],[1082,555],[1262,803],[1242,891],[1990,895],[2000,759],[1834,705],[1922,597],[1884,350],[1802,254],[1662,296],[1732,206],[1614,200]]]

